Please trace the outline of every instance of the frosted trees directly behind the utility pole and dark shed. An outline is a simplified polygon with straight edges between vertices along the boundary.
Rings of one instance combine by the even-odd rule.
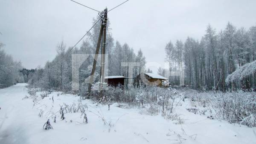
[[[93,23],[96,20],[93,19]],[[67,47],[62,40],[56,46],[57,55],[52,61],[48,61],[44,68],[37,69],[29,84],[35,87],[41,87],[43,89],[56,89],[61,91],[71,91],[72,81],[72,54],[93,54],[79,67],[79,87],[81,95],[84,95],[87,90],[87,82],[85,79],[90,76],[94,54],[96,51],[96,45],[99,37],[101,23],[97,23],[96,26],[90,31],[89,36],[84,40],[79,47],[71,49]],[[101,50],[100,52],[101,53]],[[127,44],[121,44],[118,41],[114,42],[111,35],[109,24],[107,29],[107,48],[106,48],[108,65],[106,71],[108,75],[122,75],[128,77],[128,67],[122,66],[122,62],[140,62],[140,66],[137,66],[134,71],[134,75],[138,75],[140,69],[145,66],[145,57],[141,50],[135,53],[134,50]],[[76,55],[73,55],[76,58]],[[100,56],[96,65],[95,81],[99,81],[100,77]]]

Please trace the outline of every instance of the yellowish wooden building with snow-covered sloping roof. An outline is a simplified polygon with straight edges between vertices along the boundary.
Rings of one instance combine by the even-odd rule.
[[[157,86],[162,86],[162,81],[168,80],[168,78],[165,78],[161,75],[153,74],[153,73],[148,73],[145,72],[145,78],[151,82],[149,85],[154,85],[157,84]]]

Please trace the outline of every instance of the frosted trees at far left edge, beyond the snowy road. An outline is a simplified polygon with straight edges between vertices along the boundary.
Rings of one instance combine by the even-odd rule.
[[[4,46],[0,43],[0,88],[12,86],[16,83],[23,83],[23,75],[21,63],[13,60],[11,55],[1,49]]]

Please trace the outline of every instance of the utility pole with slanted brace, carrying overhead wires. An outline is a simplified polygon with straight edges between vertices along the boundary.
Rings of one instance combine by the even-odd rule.
[[[91,72],[91,76],[90,76],[90,82],[88,85],[88,90],[87,90],[87,97],[90,95],[91,92],[91,87],[93,84],[93,78],[94,78],[94,72],[96,70],[96,63],[97,63],[97,59],[98,59],[98,55],[99,55],[99,47],[102,41],[102,34],[103,34],[103,48],[102,48],[102,58],[101,58],[101,78],[100,78],[100,91],[102,91],[103,89],[103,83],[105,82],[105,78],[104,78],[104,72],[105,72],[105,49],[106,49],[106,33],[107,33],[107,14],[108,14],[108,9],[106,8],[103,12],[102,16],[102,24],[101,24],[101,28],[100,28],[100,32],[99,32],[99,39],[98,39],[98,43],[97,43],[97,47],[96,47],[96,52],[95,52],[95,57],[94,57],[94,61],[93,61],[93,69]]]

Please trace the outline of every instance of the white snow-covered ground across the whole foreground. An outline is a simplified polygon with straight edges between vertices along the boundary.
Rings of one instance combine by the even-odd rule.
[[[175,108],[184,121],[177,124],[160,114],[143,114],[143,109],[124,109],[112,104],[108,110],[107,105],[96,106],[89,100],[79,101],[78,96],[60,92],[34,102],[24,98],[26,95],[29,96],[26,84],[0,89],[0,144],[256,144],[255,127],[210,120],[206,115],[188,112],[188,101]],[[88,124],[83,123],[81,112],[65,113],[61,120],[58,111],[64,103],[86,104]],[[47,119],[53,130],[43,129]]]

